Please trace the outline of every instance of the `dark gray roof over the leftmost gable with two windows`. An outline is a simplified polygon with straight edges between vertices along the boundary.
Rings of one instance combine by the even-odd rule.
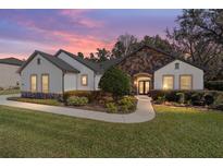
[[[60,58],[57,58],[54,56],[51,56],[49,53],[42,52],[42,51],[38,51],[36,50],[29,58],[28,60],[21,67],[21,69],[18,70],[18,72],[21,72],[27,64],[28,62],[30,62],[33,60],[33,58],[39,53],[40,56],[42,56],[45,59],[47,59],[48,61],[50,61],[52,64],[54,64],[55,67],[58,67],[59,69],[61,69],[64,72],[73,72],[73,73],[79,73],[78,70],[76,70],[75,68],[73,68],[72,65],[70,65],[69,63],[66,63],[65,61],[61,60]]]

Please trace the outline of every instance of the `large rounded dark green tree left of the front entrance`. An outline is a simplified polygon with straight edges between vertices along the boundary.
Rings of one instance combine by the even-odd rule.
[[[128,95],[131,92],[131,79],[122,70],[112,67],[107,70],[99,82],[103,92],[111,93],[114,98]]]

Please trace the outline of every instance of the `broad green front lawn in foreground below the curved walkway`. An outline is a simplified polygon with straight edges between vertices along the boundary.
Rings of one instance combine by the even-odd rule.
[[[0,106],[0,157],[223,157],[223,113],[156,111],[122,124]]]

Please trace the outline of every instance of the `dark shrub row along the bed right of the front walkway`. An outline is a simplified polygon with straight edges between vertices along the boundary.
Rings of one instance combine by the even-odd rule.
[[[223,110],[223,92],[216,91],[150,91],[149,96],[156,104],[165,101],[185,106],[208,106]]]

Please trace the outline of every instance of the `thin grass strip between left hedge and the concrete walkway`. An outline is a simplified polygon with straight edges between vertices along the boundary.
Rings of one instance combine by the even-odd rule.
[[[22,97],[9,97],[8,99],[22,101],[22,103],[33,103],[33,104],[51,105],[51,106],[63,106],[63,104],[57,99],[36,99],[36,98],[22,98]]]

